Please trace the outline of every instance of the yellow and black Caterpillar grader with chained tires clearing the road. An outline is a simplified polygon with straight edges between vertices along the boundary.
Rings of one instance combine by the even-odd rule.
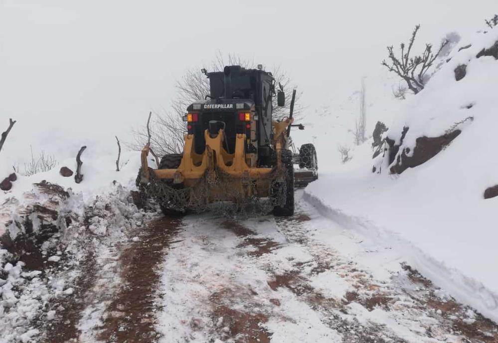
[[[182,154],[168,154],[158,169],[148,164],[150,144],[142,150],[137,186],[165,213],[200,212],[214,204],[235,211],[247,206],[275,216],[294,214],[294,190],[318,179],[313,144],[296,151],[290,138],[294,124],[293,91],[289,116],[272,119],[272,100],[285,106],[282,85],[271,72],[225,66],[202,72],[210,94],[190,104],[183,117]],[[294,168],[294,165],[299,168]]]

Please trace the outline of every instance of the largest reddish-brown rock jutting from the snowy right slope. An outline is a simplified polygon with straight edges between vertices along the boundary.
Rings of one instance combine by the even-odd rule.
[[[407,156],[409,150],[403,150],[401,154],[398,155],[396,164],[391,166],[391,173],[401,174],[408,168],[413,168],[421,165],[424,162],[427,162],[428,160],[436,156],[441,150],[443,150],[445,146],[450,144],[450,142],[454,140],[461,132],[461,130],[455,130],[449,133],[445,133],[444,135],[439,137],[423,136],[417,138],[415,148],[413,148],[412,156]]]

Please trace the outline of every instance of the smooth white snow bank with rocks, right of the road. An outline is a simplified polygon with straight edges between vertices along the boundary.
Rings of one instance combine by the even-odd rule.
[[[355,151],[361,161],[321,173],[306,193],[314,204],[366,223],[371,235],[382,228],[390,233],[385,237],[409,242],[416,253],[408,263],[498,321],[498,197],[483,197],[498,184],[498,61],[476,57],[496,41],[497,29],[463,38],[426,88],[386,123],[388,136],[401,144],[398,154],[405,148],[413,153],[418,137],[461,130],[449,146],[420,166],[389,175],[387,157],[372,161],[367,141]],[[463,64],[466,75],[457,81],[455,69]],[[403,127],[409,130],[401,141]],[[374,163],[382,167],[380,175],[371,172]]]

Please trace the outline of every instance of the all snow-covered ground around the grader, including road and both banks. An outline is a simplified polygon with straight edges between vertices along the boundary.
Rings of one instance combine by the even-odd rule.
[[[89,145],[80,184],[59,174],[74,158],[17,174],[0,192],[0,343],[497,342],[498,197],[483,193],[498,184],[498,61],[476,56],[497,41],[454,41],[406,100],[385,71],[365,78],[367,127],[389,127],[394,164],[419,137],[462,131],[402,174],[387,153],[372,159],[372,139],[340,163],[357,92],[306,116],[293,138],[317,146],[320,179],[292,218],[139,210],[139,152],[117,172]],[[17,157],[0,158],[3,179]]]

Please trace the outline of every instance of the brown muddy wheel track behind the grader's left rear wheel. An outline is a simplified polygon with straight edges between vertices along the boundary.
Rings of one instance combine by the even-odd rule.
[[[155,293],[161,282],[156,268],[167,254],[166,248],[179,231],[179,219],[159,218],[150,222],[120,257],[124,285],[109,304],[98,339],[105,342],[153,342],[156,332]]]

